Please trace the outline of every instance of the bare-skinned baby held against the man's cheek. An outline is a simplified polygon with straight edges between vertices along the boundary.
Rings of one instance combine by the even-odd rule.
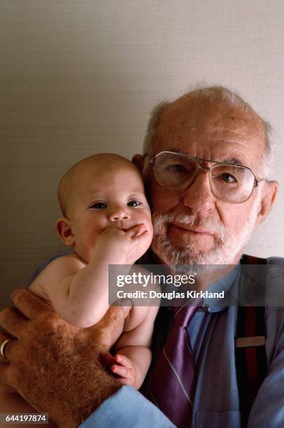
[[[65,173],[58,188],[62,217],[57,233],[73,251],[53,260],[29,290],[77,327],[98,322],[108,309],[108,265],[134,264],[152,240],[151,213],[139,170],[124,157],[87,157]],[[122,384],[139,389],[151,361],[157,306],[133,306],[113,334],[115,356],[106,364]],[[3,385],[2,385],[3,387]],[[30,407],[17,394],[2,394],[3,411]],[[14,401],[13,401],[14,400]],[[14,403],[14,405],[13,405]],[[2,411],[2,410],[1,410]]]

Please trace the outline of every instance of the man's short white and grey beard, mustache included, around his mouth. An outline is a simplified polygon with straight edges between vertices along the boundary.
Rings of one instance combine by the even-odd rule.
[[[244,222],[243,227],[234,236],[227,233],[223,224],[215,220],[200,220],[198,215],[174,212],[166,214],[154,213],[152,215],[154,228],[152,250],[159,259],[171,266],[184,266],[192,269],[192,267],[200,264],[235,264],[236,258],[241,254],[241,250],[253,234],[255,220],[260,207],[260,199],[261,195],[255,201],[250,216]],[[210,230],[213,233],[213,248],[204,252],[197,248],[196,243],[189,243],[183,247],[173,245],[168,236],[169,223],[173,221]]]

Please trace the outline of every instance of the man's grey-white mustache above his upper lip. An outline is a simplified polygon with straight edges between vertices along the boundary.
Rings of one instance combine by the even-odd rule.
[[[187,224],[188,226],[200,227],[210,231],[220,241],[224,241],[226,236],[225,227],[220,222],[213,219],[201,220],[197,215],[189,215],[184,213],[153,213],[152,223],[154,234],[159,234],[160,228],[171,222]]]

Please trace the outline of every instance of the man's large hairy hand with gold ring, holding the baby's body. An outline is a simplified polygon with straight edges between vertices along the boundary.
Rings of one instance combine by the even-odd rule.
[[[130,308],[113,307],[97,324],[79,329],[67,324],[28,290],[12,294],[15,308],[0,313],[0,344],[5,346],[0,382],[15,387],[37,411],[61,427],[78,427],[119,388],[99,362],[113,331]]]

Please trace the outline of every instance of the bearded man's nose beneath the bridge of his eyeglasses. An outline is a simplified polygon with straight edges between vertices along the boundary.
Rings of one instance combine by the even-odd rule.
[[[206,214],[215,210],[215,197],[211,192],[207,171],[199,171],[190,187],[183,192],[182,201],[184,206],[199,213]]]

